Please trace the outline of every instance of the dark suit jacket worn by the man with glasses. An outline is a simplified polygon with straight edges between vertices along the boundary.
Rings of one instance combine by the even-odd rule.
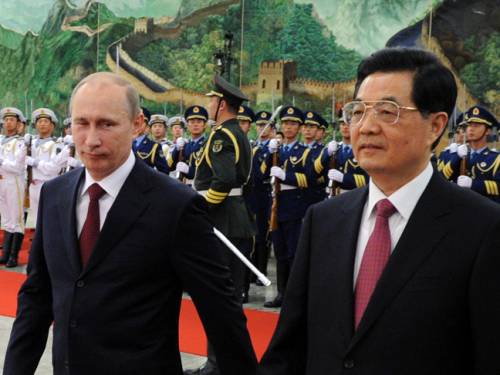
[[[436,173],[353,326],[367,188],[308,211],[259,375],[500,374],[500,208]]]

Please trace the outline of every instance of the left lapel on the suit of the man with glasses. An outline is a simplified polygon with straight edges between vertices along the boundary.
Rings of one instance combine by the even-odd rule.
[[[326,243],[335,244],[334,251],[330,249],[330,255],[325,257],[331,261],[329,269],[332,270],[330,273],[332,279],[329,281],[329,285],[334,286],[334,296],[330,300],[339,302],[334,306],[330,304],[332,309],[330,316],[333,316],[335,310],[339,309],[340,326],[338,329],[342,334],[345,347],[348,346],[354,333],[352,270],[354,269],[358,231],[352,230],[352,228],[359,228],[367,192],[368,189],[365,187],[349,193],[351,197],[342,206],[341,215],[337,216],[335,224],[329,224],[329,227],[331,226],[335,230],[329,230],[331,238],[326,241]],[[338,235],[342,233],[347,234],[347,236],[339,241]]]

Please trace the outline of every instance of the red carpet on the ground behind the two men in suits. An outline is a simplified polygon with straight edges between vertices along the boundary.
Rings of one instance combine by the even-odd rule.
[[[16,272],[0,271],[0,315],[14,317],[16,314],[17,291],[26,276]],[[264,353],[278,322],[278,314],[245,309],[248,329],[257,356]],[[196,309],[189,299],[182,301],[180,317],[180,348],[182,352],[206,355],[206,339]]]

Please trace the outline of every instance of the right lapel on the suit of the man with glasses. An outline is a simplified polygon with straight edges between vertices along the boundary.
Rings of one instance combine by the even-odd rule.
[[[449,221],[443,220],[451,212],[447,184],[434,172],[377,283],[349,350],[367,333],[449,230]]]

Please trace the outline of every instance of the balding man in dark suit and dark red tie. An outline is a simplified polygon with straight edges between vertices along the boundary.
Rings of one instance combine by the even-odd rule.
[[[182,374],[183,290],[221,373],[255,372],[203,197],[131,151],[143,124],[138,103],[112,73],[93,74],[73,92],[73,138],[85,168],[43,186],[5,375],[35,372],[52,322],[55,374]]]

